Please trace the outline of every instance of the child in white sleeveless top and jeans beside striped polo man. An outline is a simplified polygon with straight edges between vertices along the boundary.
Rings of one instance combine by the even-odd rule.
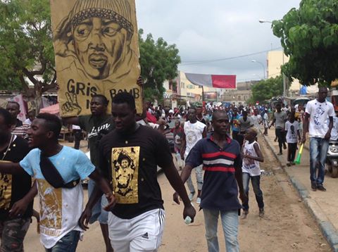
[[[255,141],[257,136],[257,131],[252,127],[246,130],[245,134],[245,143],[243,146],[243,165],[242,165],[242,176],[243,176],[243,186],[244,192],[246,193],[247,200],[243,201],[244,215],[243,218],[246,218],[246,215],[249,213],[249,182],[251,179],[251,184],[253,191],[256,196],[256,201],[259,208],[259,217],[264,216],[264,201],[263,201],[263,192],[260,187],[261,182],[261,168],[259,167],[259,162],[264,162],[263,154],[261,149],[259,149],[258,142]]]

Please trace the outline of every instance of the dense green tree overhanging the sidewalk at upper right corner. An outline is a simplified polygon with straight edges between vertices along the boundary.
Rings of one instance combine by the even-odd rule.
[[[290,57],[282,66],[290,80],[328,85],[338,78],[337,0],[302,0],[272,26]]]

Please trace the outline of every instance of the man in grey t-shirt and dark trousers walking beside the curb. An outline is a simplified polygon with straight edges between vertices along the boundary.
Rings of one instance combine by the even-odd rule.
[[[278,139],[278,146],[280,147],[280,153],[277,155],[282,155],[282,147],[287,149],[287,144],[285,144],[285,122],[287,120],[287,113],[282,111],[282,107],[280,103],[276,105],[276,112],[273,113],[273,122],[271,122],[271,126],[275,124],[275,132],[276,137]],[[270,128],[269,127],[269,128]]]

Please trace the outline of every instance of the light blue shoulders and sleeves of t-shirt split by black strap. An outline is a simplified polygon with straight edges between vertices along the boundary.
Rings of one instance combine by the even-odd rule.
[[[20,161],[20,166],[23,170],[30,176],[35,177],[35,179],[44,179],[40,168],[40,154],[40,149],[32,149],[32,151]],[[49,157],[49,160],[54,164],[65,183],[79,178],[85,179],[95,170],[95,166],[82,151],[68,146],[63,146],[61,151]]]

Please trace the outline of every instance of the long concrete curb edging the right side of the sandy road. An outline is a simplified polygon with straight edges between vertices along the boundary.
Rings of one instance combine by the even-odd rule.
[[[338,252],[337,230],[334,228],[332,223],[329,220],[327,220],[326,215],[320,209],[318,204],[309,197],[309,193],[306,187],[304,187],[303,184],[301,184],[301,182],[299,182],[299,180],[296,179],[296,177],[290,175],[288,170],[284,168],[284,165],[282,165],[283,161],[282,156],[277,156],[275,149],[270,144],[270,141],[268,141],[267,137],[264,134],[261,135],[264,137],[266,144],[268,144],[268,147],[273,152],[275,158],[277,158],[278,163],[280,163],[280,167],[284,170],[284,172],[287,174],[287,177],[289,177],[290,181],[292,182],[292,185],[298,191],[299,196],[301,196],[301,199],[303,200],[306,208],[308,209],[308,212],[311,213],[311,215],[313,215],[313,217],[315,218],[315,221],[318,223],[323,236],[327,239],[327,242],[330,244],[332,251]],[[307,146],[304,146],[304,149],[309,150]]]

